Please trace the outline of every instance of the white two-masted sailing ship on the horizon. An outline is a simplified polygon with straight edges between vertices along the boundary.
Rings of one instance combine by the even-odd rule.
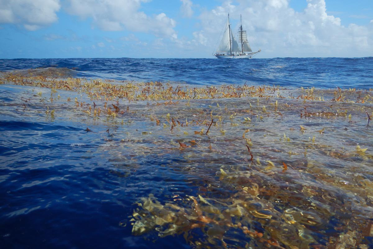
[[[249,42],[247,41],[246,30],[242,30],[242,16],[241,26],[238,30],[238,42],[241,43],[241,46],[238,45],[237,40],[232,33],[228,13],[228,22],[225,26],[223,38],[214,56],[216,56],[217,58],[228,59],[251,59],[254,55],[261,51],[260,49],[257,52],[253,52],[253,50],[251,50]]]

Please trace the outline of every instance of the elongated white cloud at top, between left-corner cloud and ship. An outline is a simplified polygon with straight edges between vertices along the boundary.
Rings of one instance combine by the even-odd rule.
[[[148,16],[139,11],[148,0],[68,0],[67,11],[82,18],[92,18],[94,25],[105,31],[123,29],[147,32],[176,39],[175,20],[165,13]]]

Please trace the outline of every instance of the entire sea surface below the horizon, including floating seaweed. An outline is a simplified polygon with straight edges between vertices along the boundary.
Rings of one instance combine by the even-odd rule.
[[[0,60],[50,67],[0,78],[0,248],[373,247],[373,57]]]

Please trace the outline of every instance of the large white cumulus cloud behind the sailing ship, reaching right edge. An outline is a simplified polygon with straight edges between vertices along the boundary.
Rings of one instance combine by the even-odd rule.
[[[372,56],[373,25],[341,25],[341,19],[329,15],[325,0],[307,0],[307,7],[296,12],[290,0],[225,1],[221,6],[201,13],[201,30],[194,41],[213,46],[230,12],[232,31],[242,25],[253,50],[262,49],[266,57],[360,57]]]

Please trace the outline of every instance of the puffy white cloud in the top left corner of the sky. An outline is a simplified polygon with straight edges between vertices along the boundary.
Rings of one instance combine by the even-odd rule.
[[[0,0],[0,23],[36,30],[57,21],[59,0]]]

